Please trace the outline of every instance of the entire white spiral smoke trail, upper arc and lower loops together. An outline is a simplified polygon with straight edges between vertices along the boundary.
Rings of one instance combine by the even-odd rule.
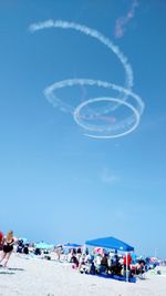
[[[30,25],[30,31],[35,32],[38,30],[43,30],[43,29],[49,29],[49,28],[61,28],[61,29],[73,29],[76,30],[81,33],[84,33],[86,35],[90,35],[92,38],[97,39],[101,43],[106,45],[113,53],[116,54],[117,59],[121,61],[124,70],[125,70],[125,88],[122,88],[120,85],[106,82],[106,81],[101,81],[101,80],[93,80],[93,79],[68,79],[63,81],[59,81],[53,83],[52,85],[48,86],[44,90],[44,95],[46,100],[53,104],[53,106],[60,106],[62,111],[68,111],[71,112],[73,115],[75,122],[83,129],[93,132],[93,134],[86,133],[85,135],[91,136],[91,137],[98,137],[98,139],[111,139],[111,137],[118,137],[126,135],[134,131],[141,120],[141,115],[144,111],[144,103],[142,99],[134,94],[132,92],[132,86],[133,86],[133,71],[132,67],[127,61],[127,58],[120,51],[120,49],[112,43],[112,41],[104,37],[102,33],[100,33],[96,30],[90,29],[85,25],[77,24],[74,22],[66,22],[62,20],[49,20],[45,22],[39,22],[39,23],[33,23]],[[93,98],[87,101],[84,101],[77,105],[77,108],[73,108],[70,104],[66,104],[62,102],[61,99],[59,99],[54,92],[59,89],[63,88],[69,88],[69,86],[97,86],[97,88],[104,88],[107,90],[113,90],[118,93],[120,98],[112,98],[112,96],[102,96],[102,98]],[[123,94],[123,99],[121,95]],[[128,102],[129,101],[129,102]],[[108,108],[103,106],[102,109],[98,110],[96,109],[89,109],[87,113],[83,110],[87,105],[92,105],[98,102],[104,102],[106,104],[110,104]],[[123,120],[121,119],[120,123],[116,124],[115,118],[113,118],[113,112],[114,113],[120,113],[120,108],[125,108],[127,109],[127,115]],[[133,115],[129,113],[132,112]],[[83,113],[83,114],[82,114]],[[111,113],[111,116],[110,114]],[[101,115],[102,114],[102,115]],[[129,114],[129,115],[128,115]],[[120,114],[118,114],[120,116]],[[124,115],[123,115],[124,116]],[[92,121],[93,120],[105,120],[105,122],[110,123],[107,126],[103,125],[96,125]],[[89,120],[89,122],[87,122]],[[101,124],[101,123],[100,123]],[[103,124],[103,122],[102,122]]]

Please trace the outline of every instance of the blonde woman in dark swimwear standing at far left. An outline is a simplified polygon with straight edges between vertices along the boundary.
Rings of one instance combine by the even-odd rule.
[[[11,253],[13,251],[13,245],[14,245],[14,237],[13,237],[13,232],[9,231],[6,236],[2,238],[2,254],[0,258],[0,263],[3,261],[3,267],[7,266],[9,258],[11,256]]]

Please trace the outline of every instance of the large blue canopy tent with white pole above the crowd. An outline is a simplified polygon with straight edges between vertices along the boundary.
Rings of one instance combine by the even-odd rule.
[[[133,246],[129,246],[128,244],[115,238],[115,237],[103,237],[103,238],[96,238],[92,241],[86,241],[85,245],[91,246],[97,246],[97,247],[105,247],[105,248],[113,248],[115,251],[122,251],[122,252],[131,252],[134,251]],[[126,254],[127,257],[127,254]],[[126,264],[127,265],[127,264]],[[128,282],[128,273],[126,272],[126,282]]]

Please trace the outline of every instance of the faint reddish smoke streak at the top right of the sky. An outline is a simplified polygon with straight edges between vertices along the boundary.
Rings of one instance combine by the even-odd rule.
[[[138,1],[134,0],[127,14],[116,20],[116,23],[115,23],[115,37],[116,38],[122,38],[124,35],[126,24],[131,21],[131,19],[135,17],[136,7],[138,7]]]

